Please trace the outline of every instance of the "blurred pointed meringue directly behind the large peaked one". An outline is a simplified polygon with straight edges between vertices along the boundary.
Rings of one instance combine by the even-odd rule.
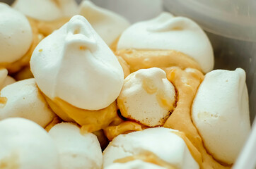
[[[105,8],[95,6],[91,1],[83,1],[80,5],[83,15],[93,26],[105,43],[110,46],[129,27],[129,21]]]

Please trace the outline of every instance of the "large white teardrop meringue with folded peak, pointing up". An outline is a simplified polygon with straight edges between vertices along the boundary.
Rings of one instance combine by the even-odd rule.
[[[46,96],[86,110],[109,106],[124,81],[117,57],[81,15],[37,45],[30,67]]]

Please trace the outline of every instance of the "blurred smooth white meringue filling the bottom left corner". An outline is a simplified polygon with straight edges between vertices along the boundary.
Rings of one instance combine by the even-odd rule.
[[[59,168],[57,147],[39,125],[24,118],[0,121],[0,168]]]

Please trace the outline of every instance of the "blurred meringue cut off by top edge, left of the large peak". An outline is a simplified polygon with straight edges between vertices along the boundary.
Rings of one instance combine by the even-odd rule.
[[[56,20],[64,16],[71,17],[78,13],[75,0],[16,0],[13,8],[30,18],[37,20]]]

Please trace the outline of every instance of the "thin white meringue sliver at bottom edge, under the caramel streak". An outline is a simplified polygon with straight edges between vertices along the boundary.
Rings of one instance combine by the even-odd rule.
[[[165,169],[153,163],[146,163],[141,160],[129,161],[127,163],[112,163],[105,169]]]

